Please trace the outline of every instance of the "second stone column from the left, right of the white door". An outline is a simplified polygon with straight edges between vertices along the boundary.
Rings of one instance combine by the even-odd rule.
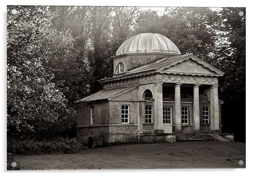
[[[180,83],[175,84],[175,131],[181,131],[181,103],[180,103]]]

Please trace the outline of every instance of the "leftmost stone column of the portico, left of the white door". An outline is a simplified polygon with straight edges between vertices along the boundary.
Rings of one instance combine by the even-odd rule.
[[[163,133],[162,82],[154,83],[154,132]]]

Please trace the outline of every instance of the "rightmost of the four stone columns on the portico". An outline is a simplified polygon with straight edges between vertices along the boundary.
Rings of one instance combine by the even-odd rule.
[[[210,86],[210,129],[212,131],[219,131],[218,85]]]

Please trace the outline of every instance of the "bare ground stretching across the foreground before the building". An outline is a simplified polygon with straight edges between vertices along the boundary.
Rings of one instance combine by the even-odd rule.
[[[244,164],[239,165],[239,160]],[[25,170],[245,168],[245,143],[174,142],[127,144],[76,154],[19,156]]]

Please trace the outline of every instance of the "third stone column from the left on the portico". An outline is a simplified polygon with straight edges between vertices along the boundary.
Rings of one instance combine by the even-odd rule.
[[[200,131],[200,115],[199,115],[199,85],[194,85],[193,96],[193,131]]]

